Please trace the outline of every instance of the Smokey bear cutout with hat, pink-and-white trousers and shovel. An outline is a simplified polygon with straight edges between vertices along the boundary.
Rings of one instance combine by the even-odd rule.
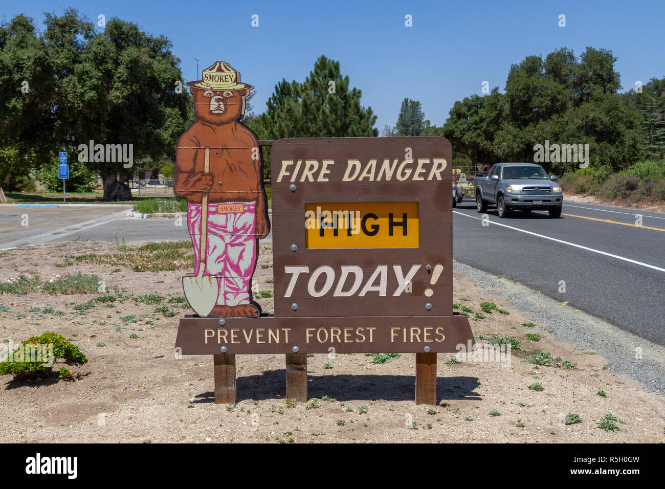
[[[259,317],[251,278],[270,222],[257,136],[239,122],[254,87],[223,61],[201,78],[188,83],[197,120],[178,139],[174,173],[196,260],[185,296],[201,317]]]

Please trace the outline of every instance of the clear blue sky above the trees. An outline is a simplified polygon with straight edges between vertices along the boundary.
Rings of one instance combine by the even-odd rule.
[[[214,61],[227,61],[257,88],[255,110],[285,78],[304,81],[317,57],[341,63],[362,104],[394,124],[404,97],[422,102],[426,118],[443,124],[456,100],[503,90],[512,63],[559,47],[579,55],[611,49],[624,88],[665,77],[665,2],[640,1],[283,1],[153,2],[142,0],[0,0],[0,17],[35,19],[74,7],[96,21],[120,17],[173,42],[186,81]],[[413,27],[404,25],[412,15]],[[559,15],[566,27],[559,27]],[[259,27],[251,27],[252,15]],[[102,27],[98,27],[102,29]]]

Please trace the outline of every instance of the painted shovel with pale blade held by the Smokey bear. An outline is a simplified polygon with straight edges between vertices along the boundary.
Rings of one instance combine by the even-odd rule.
[[[205,173],[210,169],[210,148],[205,148],[205,160],[203,171]],[[205,269],[205,258],[207,257],[207,193],[203,194],[201,200],[201,252],[199,253],[199,273],[198,275],[188,275],[182,277],[182,289],[185,297],[190,303],[194,312],[199,317],[209,315],[213,307],[217,304],[219,295],[219,282],[214,275],[203,276]]]

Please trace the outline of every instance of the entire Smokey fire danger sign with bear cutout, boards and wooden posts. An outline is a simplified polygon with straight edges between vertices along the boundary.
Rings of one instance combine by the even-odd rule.
[[[217,62],[190,86],[199,120],[178,141],[174,192],[188,198],[197,265],[183,287],[197,314],[176,348],[213,355],[215,403],[235,403],[238,354],[285,355],[286,395],[304,402],[307,353],[394,352],[416,353],[416,403],[436,404],[436,353],[473,347],[452,310],[450,143],[275,142],[275,313],[261,314],[250,285],[269,221],[258,142],[237,122],[247,85]]]

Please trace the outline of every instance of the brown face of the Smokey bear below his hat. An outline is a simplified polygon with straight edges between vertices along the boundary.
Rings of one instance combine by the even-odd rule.
[[[245,115],[245,97],[249,90],[201,90],[190,88],[194,93],[196,118],[207,124],[221,126],[239,120]]]

